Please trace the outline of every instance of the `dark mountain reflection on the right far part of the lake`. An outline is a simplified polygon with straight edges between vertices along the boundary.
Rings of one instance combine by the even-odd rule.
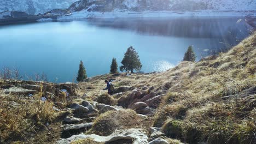
[[[252,31],[242,17],[160,17],[127,19],[92,19],[90,25],[135,31],[165,37],[214,39],[208,49],[227,49]]]

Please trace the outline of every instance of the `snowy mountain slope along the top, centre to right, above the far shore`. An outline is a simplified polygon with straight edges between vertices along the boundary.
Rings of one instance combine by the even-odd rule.
[[[80,0],[71,11],[256,10],[256,0]]]

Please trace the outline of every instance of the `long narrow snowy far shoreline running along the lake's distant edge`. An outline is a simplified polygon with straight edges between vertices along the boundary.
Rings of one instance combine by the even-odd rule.
[[[82,19],[115,19],[115,18],[143,18],[143,17],[246,17],[248,24],[256,28],[256,10],[196,10],[196,11],[126,11],[126,12],[88,12],[78,11],[71,15],[50,14],[28,17],[11,17],[0,19],[0,26],[15,25],[31,22],[74,21]]]

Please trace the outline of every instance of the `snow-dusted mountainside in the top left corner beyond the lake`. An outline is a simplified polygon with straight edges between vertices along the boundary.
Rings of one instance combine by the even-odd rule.
[[[77,0],[0,0],[0,15],[4,11],[43,14],[53,9],[66,9]]]

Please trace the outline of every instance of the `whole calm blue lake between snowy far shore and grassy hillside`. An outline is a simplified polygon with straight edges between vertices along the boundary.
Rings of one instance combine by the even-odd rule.
[[[45,73],[50,81],[72,81],[80,60],[88,76],[109,73],[133,46],[142,71],[163,71],[181,62],[193,45],[197,59],[248,36],[241,17],[127,18],[28,23],[0,27],[0,68],[19,68],[24,77]]]

